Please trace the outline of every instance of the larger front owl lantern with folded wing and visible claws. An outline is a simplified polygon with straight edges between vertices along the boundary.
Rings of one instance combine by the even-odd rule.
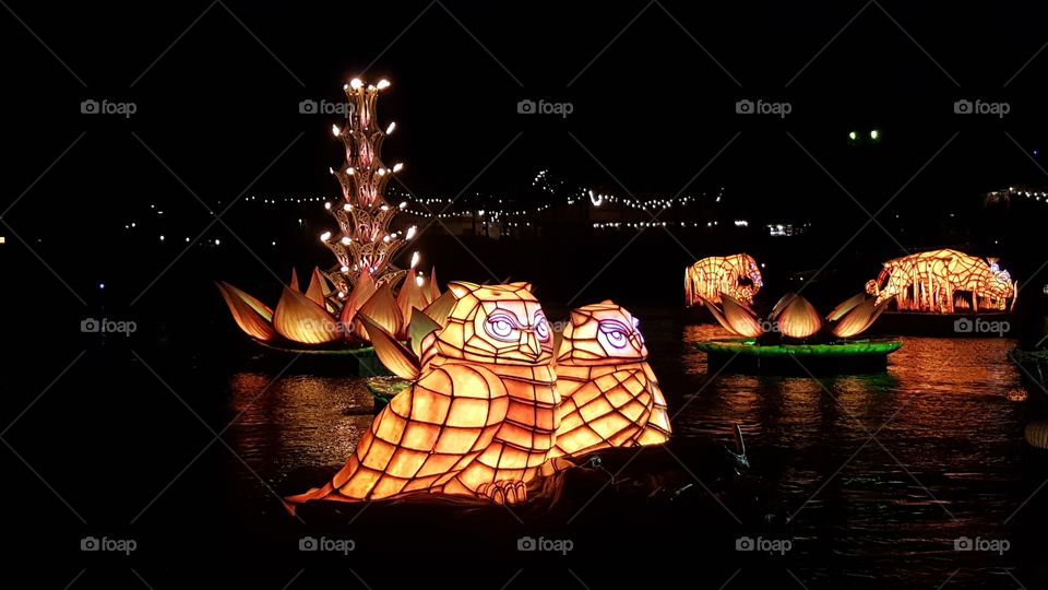
[[[454,305],[443,327],[422,339],[420,359],[365,320],[380,358],[414,382],[376,417],[332,481],[287,498],[291,505],[413,491],[526,498],[559,425],[549,324],[526,283],[449,288]],[[389,362],[394,354],[403,358]]]

